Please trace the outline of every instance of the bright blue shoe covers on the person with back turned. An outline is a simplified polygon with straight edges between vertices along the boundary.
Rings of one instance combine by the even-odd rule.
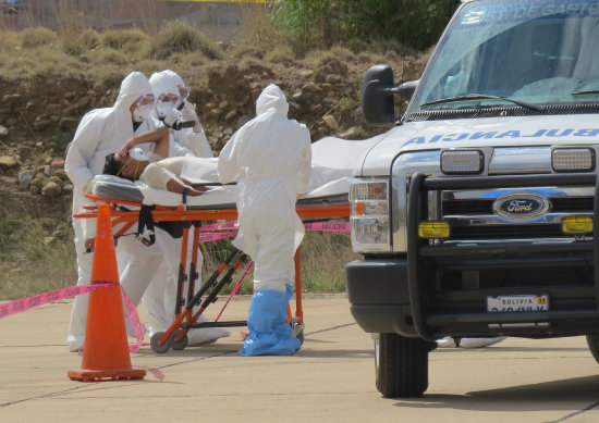
[[[249,335],[243,343],[241,356],[291,356],[302,343],[292,338],[286,306],[293,288],[285,285],[285,293],[276,289],[259,290],[252,297],[247,313]]]

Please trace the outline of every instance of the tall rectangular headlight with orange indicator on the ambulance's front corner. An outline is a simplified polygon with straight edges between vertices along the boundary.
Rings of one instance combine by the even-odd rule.
[[[390,251],[389,182],[354,179],[350,187],[350,203],[354,251]]]

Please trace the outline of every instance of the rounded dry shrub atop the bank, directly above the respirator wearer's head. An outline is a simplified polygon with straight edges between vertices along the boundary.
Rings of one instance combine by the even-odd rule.
[[[188,24],[174,21],[168,23],[155,37],[151,55],[168,59],[173,53],[201,52],[208,59],[222,59],[222,49],[199,30]]]

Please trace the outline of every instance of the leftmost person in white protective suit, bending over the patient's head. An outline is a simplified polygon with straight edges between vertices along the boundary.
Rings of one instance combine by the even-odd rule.
[[[139,72],[129,74],[121,83],[119,97],[112,108],[96,109],[81,121],[69,147],[64,170],[73,182],[73,212],[83,211],[89,201],[94,176],[102,173],[105,158],[119,149],[134,135],[152,128],[148,120],[154,108],[154,95],[147,77]],[[86,239],[96,234],[95,219],[73,219],[77,253],[77,285],[87,285],[91,277],[94,254],[86,252]],[[151,276],[162,262],[163,248],[158,240],[145,246],[132,236],[122,236],[117,250],[126,250],[129,262],[120,274],[121,284],[131,300],[137,304]],[[73,303],[66,345],[71,351],[84,345],[88,296],[77,296]],[[131,334],[131,329],[127,332]]]

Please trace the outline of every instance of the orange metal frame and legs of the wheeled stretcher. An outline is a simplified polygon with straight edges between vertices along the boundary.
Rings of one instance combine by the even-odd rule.
[[[110,207],[110,215],[112,219],[112,227],[118,225],[122,226],[113,233],[114,239],[125,235],[131,228],[138,223],[139,211],[127,210],[122,211],[120,208],[135,207],[140,208],[143,204],[139,202],[133,202],[127,200],[106,198],[96,196],[93,194],[86,194],[88,199],[107,203]],[[350,216],[349,203],[334,203],[334,204],[317,204],[317,206],[301,206],[296,207],[296,212],[300,219],[318,219],[329,220]],[[233,273],[245,262],[247,257],[242,254],[235,260],[237,251],[235,250],[223,261],[219,268],[212,273],[206,284],[195,293],[195,283],[199,277],[196,272],[197,266],[197,251],[199,248],[199,234],[200,223],[205,221],[234,221],[237,219],[237,210],[234,207],[225,208],[203,208],[203,209],[190,209],[186,204],[180,204],[176,207],[156,206],[151,211],[154,222],[180,222],[187,223],[183,226],[183,235],[181,240],[181,260],[179,264],[178,275],[178,293],[175,304],[175,316],[171,326],[163,333],[157,333],[150,339],[151,348],[155,352],[163,353],[170,348],[181,350],[187,345],[187,332],[191,328],[196,327],[233,327],[233,326],[246,326],[246,321],[230,321],[230,322],[203,322],[196,323],[197,319],[203,314],[206,307],[216,301],[217,295],[220,290],[231,281]],[[97,211],[88,211],[83,213],[73,214],[75,219],[93,219],[97,217]],[[190,241],[190,231],[193,227],[192,234],[192,260],[190,261],[188,273],[185,273],[187,263],[187,245]],[[235,261],[233,261],[235,260]],[[301,249],[294,257],[295,262],[295,314],[291,314],[291,309],[288,306],[288,316],[290,318],[290,324],[294,327],[294,331],[298,333],[298,337],[303,341],[303,328],[304,328],[304,312],[302,306],[302,266],[301,266]],[[217,282],[218,276],[225,272],[220,282]],[[188,282],[187,296],[184,297],[183,287],[185,282]],[[210,288],[213,288],[208,293]],[[201,301],[201,296],[208,294],[208,297]],[[193,312],[195,306],[200,306],[199,311]],[[182,310],[182,307],[185,309]],[[297,329],[297,331],[296,331]]]

